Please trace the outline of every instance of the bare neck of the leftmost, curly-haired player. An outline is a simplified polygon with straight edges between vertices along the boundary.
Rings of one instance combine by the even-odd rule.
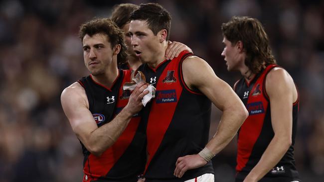
[[[92,79],[107,88],[111,88],[118,77],[118,74],[117,61],[113,61],[113,63],[106,69],[105,73],[96,76],[92,75]]]

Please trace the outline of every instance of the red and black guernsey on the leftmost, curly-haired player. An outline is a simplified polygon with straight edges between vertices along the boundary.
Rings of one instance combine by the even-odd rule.
[[[130,82],[130,77],[130,70],[119,70],[110,89],[96,83],[91,75],[78,81],[86,91],[89,110],[98,127],[110,122],[127,105],[130,92],[123,91],[123,85]],[[91,154],[81,143],[83,182],[137,182],[146,162],[145,126],[140,121],[140,115],[135,114],[115,144],[100,157]]]

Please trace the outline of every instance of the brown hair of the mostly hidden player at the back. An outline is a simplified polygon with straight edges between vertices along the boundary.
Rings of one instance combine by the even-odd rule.
[[[131,21],[129,16],[137,8],[139,8],[138,5],[131,3],[116,4],[113,7],[111,20],[113,20],[119,28],[123,28],[124,25]]]

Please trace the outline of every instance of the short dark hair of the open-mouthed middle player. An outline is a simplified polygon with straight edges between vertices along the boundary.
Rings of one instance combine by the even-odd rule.
[[[169,40],[171,15],[158,3],[141,4],[140,7],[134,10],[130,15],[130,20],[145,20],[154,35],[162,29],[166,29],[166,40]]]

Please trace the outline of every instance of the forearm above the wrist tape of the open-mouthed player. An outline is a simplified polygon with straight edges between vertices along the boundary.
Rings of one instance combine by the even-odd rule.
[[[233,139],[246,117],[244,109],[236,109],[236,112],[232,109],[224,110],[216,134],[206,147],[215,155],[219,153]]]

